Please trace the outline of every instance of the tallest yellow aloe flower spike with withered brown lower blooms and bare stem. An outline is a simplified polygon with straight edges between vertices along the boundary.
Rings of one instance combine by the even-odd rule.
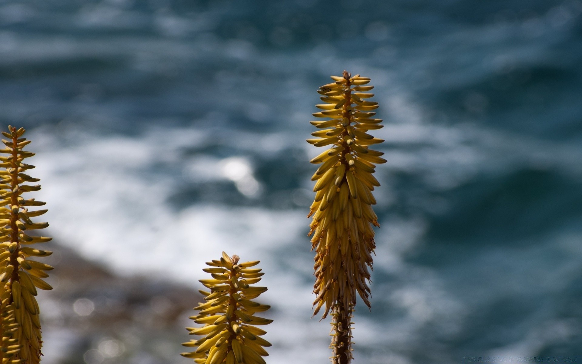
[[[322,111],[313,114],[328,120],[311,121],[322,130],[311,133],[315,139],[307,140],[316,147],[331,146],[311,160],[321,166],[311,178],[317,182],[307,217],[313,216],[309,235],[313,234],[315,249],[314,314],[324,305],[323,317],[332,312],[332,362],[345,364],[352,359],[350,320],[356,292],[370,307],[367,281],[375,248],[372,225],[379,226],[371,207],[376,203],[371,191],[380,185],[372,173],[375,164],[386,160],[380,157],[384,153],[369,148],[384,142],[367,133],[382,128],[382,120],[374,119],[372,112],[378,103],[367,100],[374,94],[365,93],[374,86],[363,86],[370,79],[352,77],[347,71],[331,78],[333,83],[318,90],[325,104],[315,106]]]

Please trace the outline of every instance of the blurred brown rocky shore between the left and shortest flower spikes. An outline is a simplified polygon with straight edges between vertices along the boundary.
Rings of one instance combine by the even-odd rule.
[[[58,243],[42,259],[55,267],[40,291],[44,364],[189,363],[180,343],[201,300],[190,287],[155,277],[120,277]],[[115,252],[112,252],[112,254]]]

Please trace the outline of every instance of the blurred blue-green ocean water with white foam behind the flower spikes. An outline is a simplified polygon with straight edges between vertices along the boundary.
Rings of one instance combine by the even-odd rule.
[[[59,243],[196,289],[222,250],[261,259],[268,362],[326,362],[304,139],[329,75],[371,77],[388,163],[356,362],[576,363],[581,14],[579,0],[2,0],[0,121],[29,129]],[[44,332],[44,362],[65,363],[74,335]],[[84,361],[115,362],[111,342]]]

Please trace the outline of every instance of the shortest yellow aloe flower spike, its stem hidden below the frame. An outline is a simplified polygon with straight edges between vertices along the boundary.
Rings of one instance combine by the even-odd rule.
[[[206,273],[212,275],[210,280],[200,282],[210,292],[200,291],[205,303],[200,303],[195,310],[200,310],[190,319],[203,327],[187,327],[191,335],[204,335],[199,340],[184,342],[184,347],[196,347],[196,351],[182,353],[186,358],[194,359],[197,364],[265,364],[262,356],[269,355],[263,347],[271,343],[261,338],[267,332],[255,325],[266,325],[273,320],[254,316],[271,308],[268,305],[250,301],[257,298],[267,287],[250,287],[261,280],[260,269],[250,268],[258,260],[239,263],[239,257],[232,258],[222,252],[220,260],[206,264]]]

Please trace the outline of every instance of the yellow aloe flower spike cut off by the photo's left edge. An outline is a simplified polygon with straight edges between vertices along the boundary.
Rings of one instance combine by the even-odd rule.
[[[38,250],[30,245],[34,243],[48,242],[51,238],[44,236],[30,236],[25,234],[30,230],[44,229],[47,222],[33,222],[31,217],[37,217],[47,210],[29,211],[29,206],[42,206],[45,203],[34,199],[25,200],[22,194],[40,190],[40,185],[24,185],[24,182],[37,182],[38,178],[32,178],[25,174],[34,165],[24,164],[24,158],[34,156],[34,153],[23,150],[30,143],[22,135],[24,129],[16,130],[8,126],[9,132],[2,135],[9,140],[2,139],[6,145],[0,153],[8,156],[0,156],[0,284],[2,287],[2,347],[0,351],[4,356],[4,363],[40,363],[41,331],[38,314],[38,303],[34,296],[37,289],[52,289],[41,278],[48,277],[45,272],[52,267],[31,260],[30,257],[49,256],[52,252]],[[14,318],[15,320],[12,320]],[[6,325],[5,325],[6,324]],[[16,350],[19,350],[16,352]],[[5,353],[5,354],[4,354]]]

